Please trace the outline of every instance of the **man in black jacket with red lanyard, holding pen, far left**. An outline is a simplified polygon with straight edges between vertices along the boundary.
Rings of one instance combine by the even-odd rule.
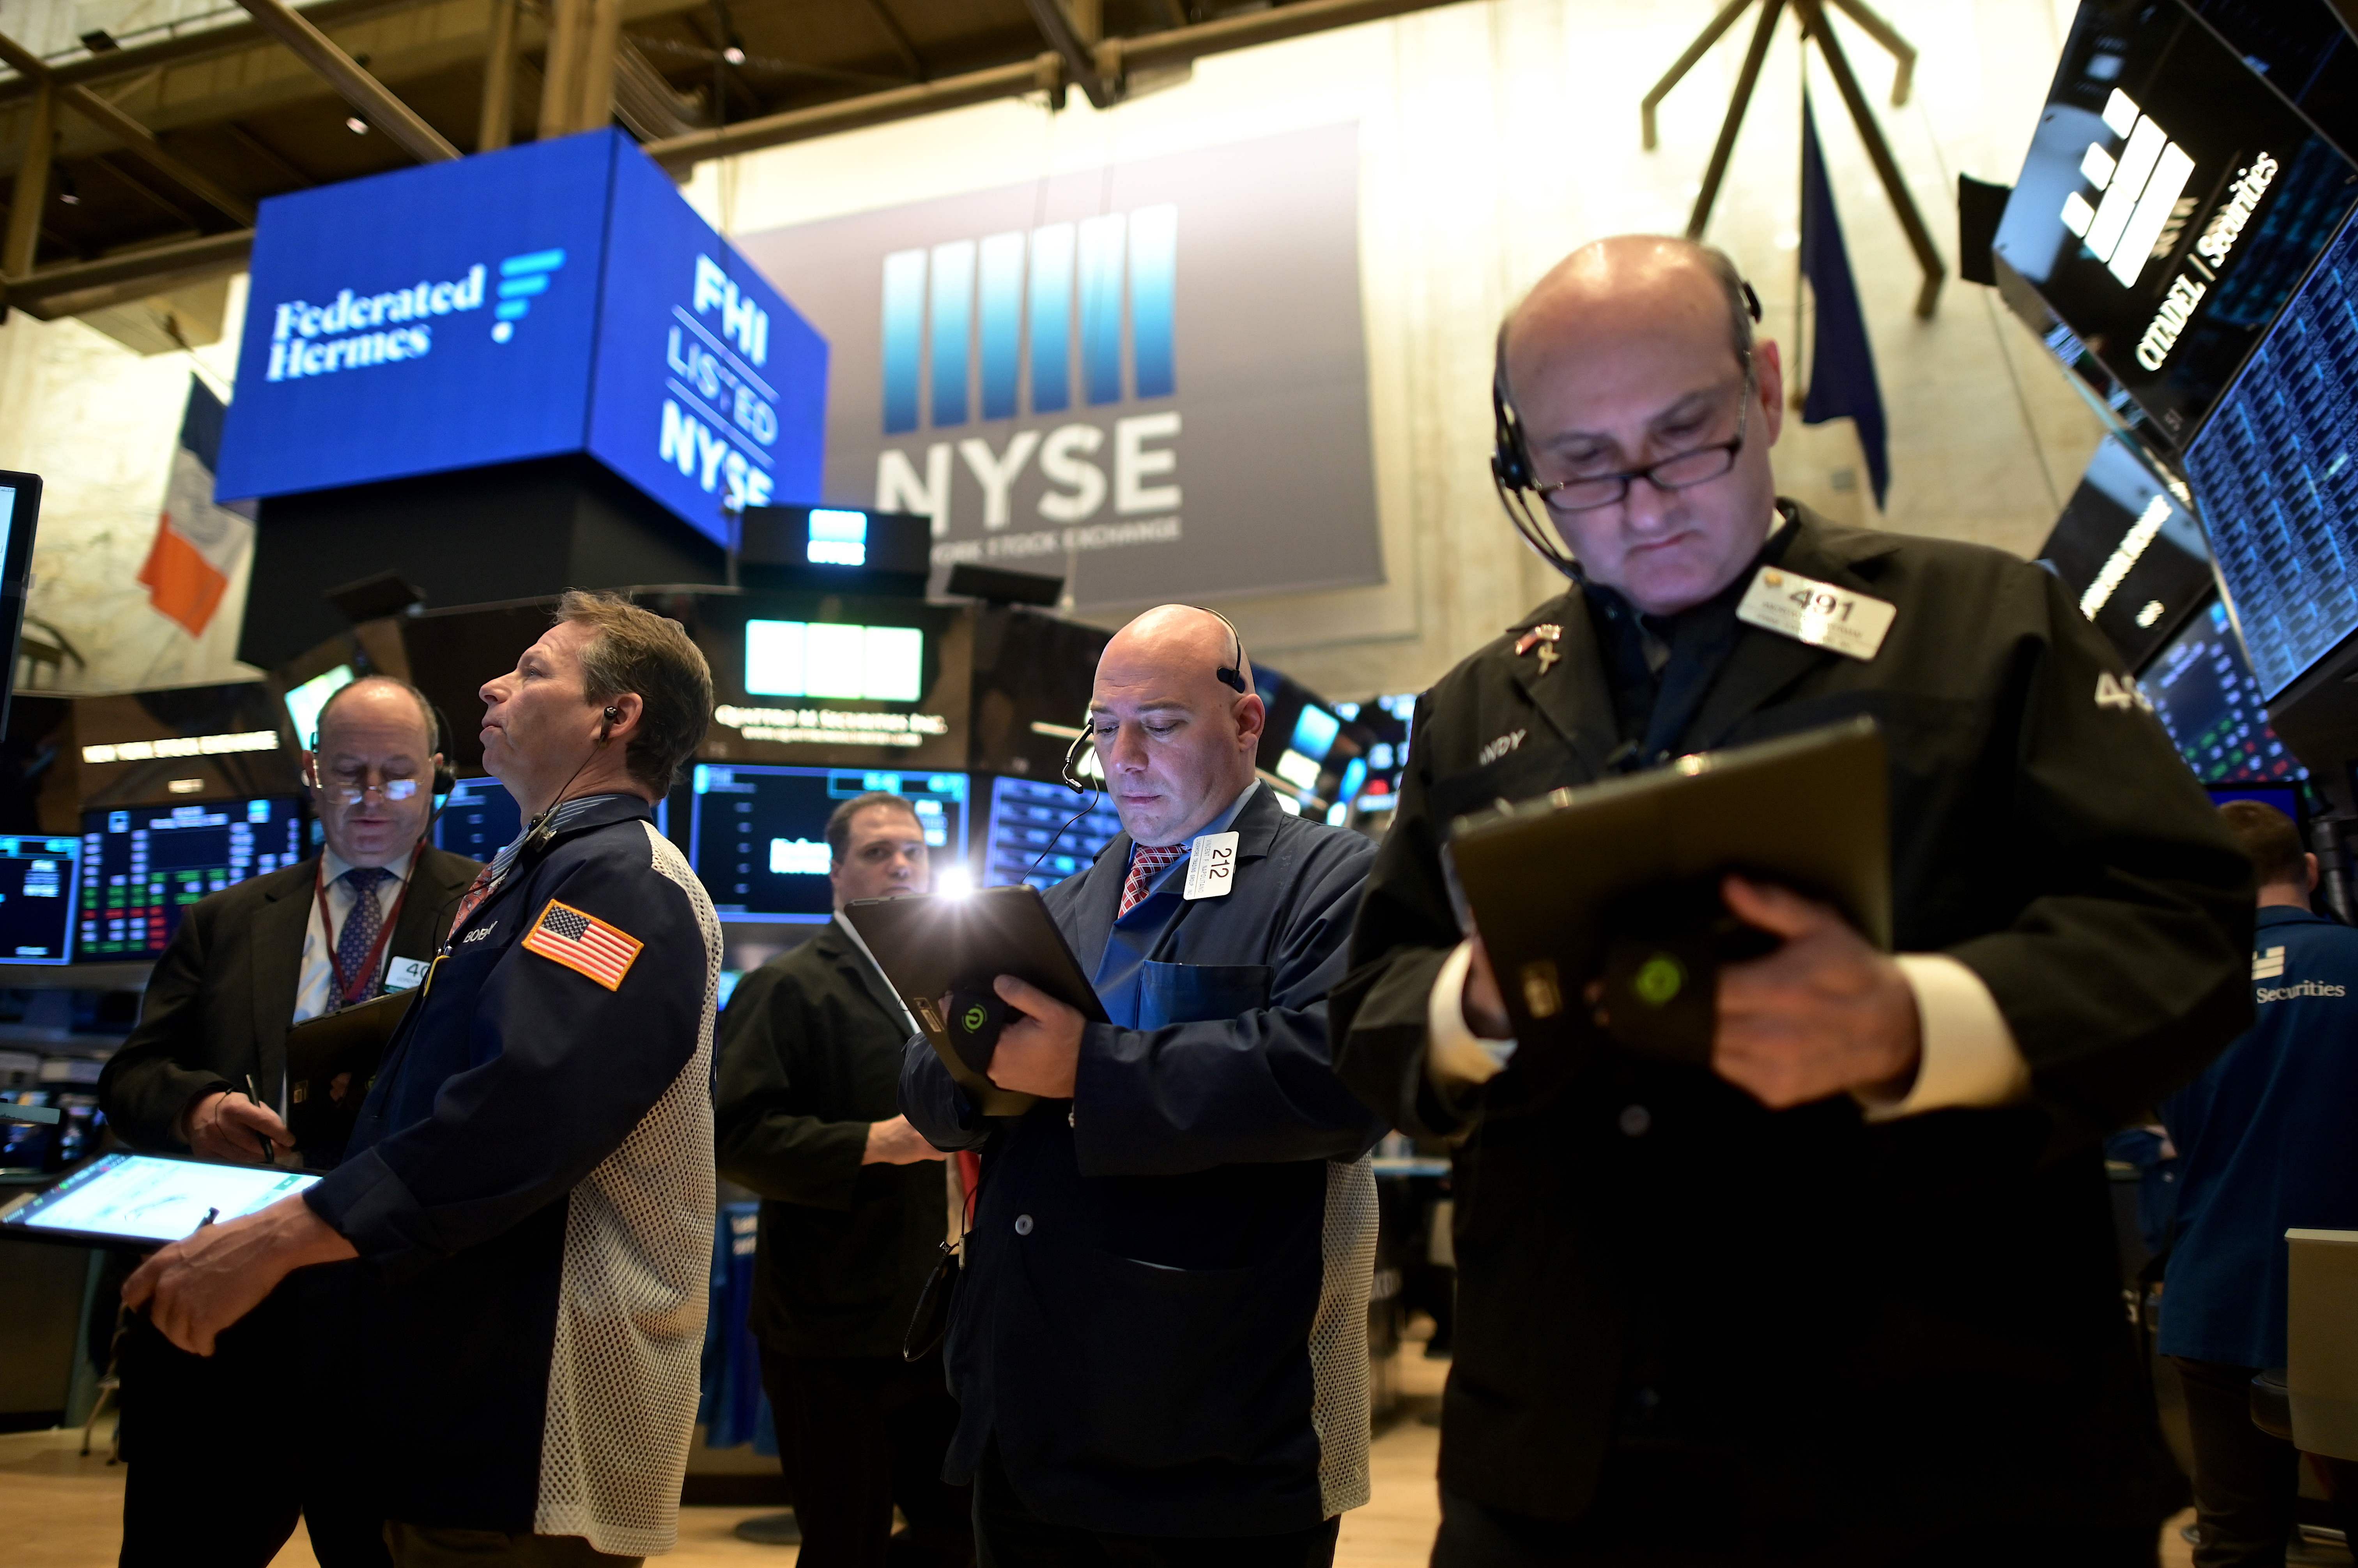
[[[139,1028],[99,1078],[99,1103],[125,1144],[205,1160],[285,1158],[288,1028],[424,974],[479,870],[424,842],[441,764],[434,731],[427,700],[389,677],[328,698],[304,762],[328,844],[182,915]],[[304,1151],[314,1162],[332,1153]],[[299,1285],[278,1290],[222,1337],[212,1361],[132,1318],[123,1351],[127,1568],[189,1563],[191,1551],[259,1568],[295,1533],[297,1514],[325,1568],[384,1561],[382,1514],[340,1464],[349,1450],[288,1445],[222,1419],[257,1386],[285,1389],[307,1365],[335,1361],[321,1344],[304,1353],[307,1337],[318,1337],[307,1316],[316,1313]]]

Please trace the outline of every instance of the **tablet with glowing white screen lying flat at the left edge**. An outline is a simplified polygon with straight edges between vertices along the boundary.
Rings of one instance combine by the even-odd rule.
[[[318,1174],[276,1165],[217,1165],[170,1155],[99,1155],[57,1186],[0,1210],[0,1236],[78,1247],[160,1247],[266,1210]]]

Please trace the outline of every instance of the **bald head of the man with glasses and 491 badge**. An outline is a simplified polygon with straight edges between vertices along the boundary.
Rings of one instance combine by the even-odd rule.
[[[1776,514],[1785,377],[1726,255],[1653,233],[1582,245],[1507,318],[1502,356],[1547,514],[1592,582],[1674,615],[1750,566]],[[1707,476],[1629,479],[1592,505],[1672,457]]]

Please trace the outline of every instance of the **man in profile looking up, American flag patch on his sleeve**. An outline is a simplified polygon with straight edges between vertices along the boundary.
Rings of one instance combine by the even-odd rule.
[[[483,684],[528,813],[474,879],[318,1186],[125,1285],[174,1344],[361,1259],[354,1401],[401,1568],[667,1551],[712,1266],[719,922],[653,802],[712,674],[677,622],[566,594]],[[196,1528],[196,1526],[193,1526]]]

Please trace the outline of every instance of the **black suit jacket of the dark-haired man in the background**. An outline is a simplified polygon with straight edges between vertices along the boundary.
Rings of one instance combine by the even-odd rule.
[[[941,1162],[861,1165],[901,1111],[905,1016],[832,922],[722,1014],[719,1167],[764,1198],[752,1330],[785,1356],[898,1358],[941,1259]]]

